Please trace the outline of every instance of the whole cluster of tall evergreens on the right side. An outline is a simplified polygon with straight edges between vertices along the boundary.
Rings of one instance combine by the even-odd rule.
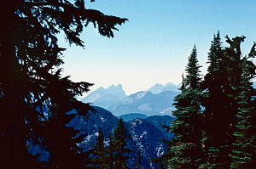
[[[256,44],[242,56],[245,37],[225,38],[229,47],[223,48],[219,32],[214,35],[202,82],[195,48],[189,56],[174,100],[177,119],[166,127],[174,138],[155,160],[162,168],[250,169],[256,164],[256,66],[251,60]]]

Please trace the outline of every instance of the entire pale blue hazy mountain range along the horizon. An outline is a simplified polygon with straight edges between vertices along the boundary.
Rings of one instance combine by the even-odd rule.
[[[171,82],[166,85],[157,83],[147,91],[127,96],[121,84],[112,85],[108,88],[97,88],[81,101],[110,110],[117,116],[131,113],[172,115],[172,100],[179,93],[179,86]]]

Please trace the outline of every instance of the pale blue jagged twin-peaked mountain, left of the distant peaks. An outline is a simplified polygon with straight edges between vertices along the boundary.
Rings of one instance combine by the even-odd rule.
[[[99,87],[84,99],[81,99],[84,103],[92,103],[103,108],[118,103],[121,99],[124,99],[126,94],[121,84],[114,86],[111,85],[108,88]]]

